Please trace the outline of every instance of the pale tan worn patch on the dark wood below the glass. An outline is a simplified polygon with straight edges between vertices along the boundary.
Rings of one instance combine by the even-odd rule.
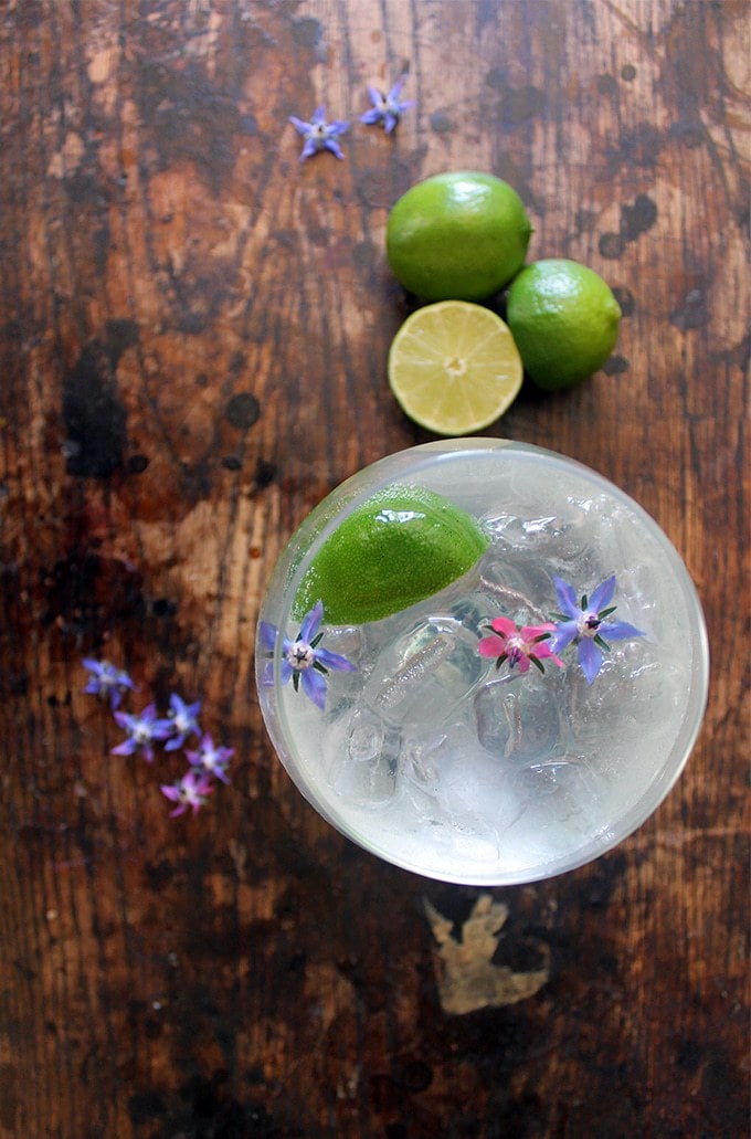
[[[533,997],[550,978],[550,951],[542,947],[545,964],[542,969],[514,973],[505,965],[494,965],[498,933],[509,917],[503,902],[480,894],[472,912],[462,925],[461,940],[452,937],[453,923],[423,901],[434,936],[438,942],[440,969],[438,995],[445,1013],[472,1013],[480,1008],[515,1005]]]

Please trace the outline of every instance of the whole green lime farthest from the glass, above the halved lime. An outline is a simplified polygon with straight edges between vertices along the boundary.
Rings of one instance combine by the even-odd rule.
[[[521,269],[530,233],[507,182],[456,171],[418,182],[396,202],[386,255],[401,284],[426,301],[482,301]]]

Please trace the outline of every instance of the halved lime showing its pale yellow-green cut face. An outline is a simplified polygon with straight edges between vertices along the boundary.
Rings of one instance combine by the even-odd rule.
[[[513,403],[523,368],[495,312],[465,301],[418,309],[394,337],[388,379],[402,410],[437,435],[481,431]]]

